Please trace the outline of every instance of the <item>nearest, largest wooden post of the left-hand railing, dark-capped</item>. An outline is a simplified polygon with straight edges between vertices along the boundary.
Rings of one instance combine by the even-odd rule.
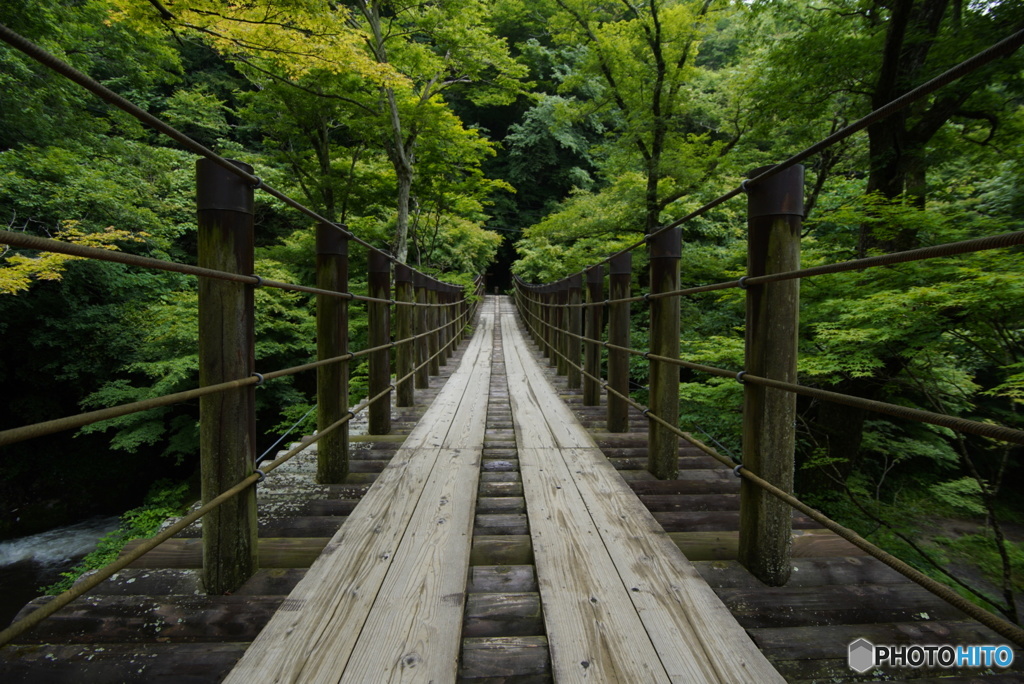
[[[247,164],[236,164],[252,173]],[[196,163],[199,265],[252,275],[253,188],[210,160]],[[249,378],[255,371],[253,286],[199,279],[199,384]],[[253,473],[256,388],[200,398],[203,502]],[[258,569],[256,487],[203,519],[203,582],[209,594],[234,591]]]

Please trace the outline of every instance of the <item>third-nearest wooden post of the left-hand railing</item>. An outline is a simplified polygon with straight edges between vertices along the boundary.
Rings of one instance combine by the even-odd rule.
[[[383,252],[370,250],[368,286],[370,296],[391,299],[391,260]],[[391,341],[391,305],[384,302],[367,302],[370,309],[371,347]],[[383,392],[391,384],[391,350],[381,349],[370,354],[370,396]],[[385,396],[370,404],[370,434],[387,434],[391,431],[391,397]]]

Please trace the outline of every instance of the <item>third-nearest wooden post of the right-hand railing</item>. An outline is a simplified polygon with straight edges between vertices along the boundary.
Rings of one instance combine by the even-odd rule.
[[[616,299],[629,299],[633,280],[633,254],[611,257],[608,273],[608,344],[630,346],[630,305]],[[630,393],[630,357],[625,351],[608,349],[608,387],[627,396]],[[630,431],[630,404],[608,392],[608,432]]]

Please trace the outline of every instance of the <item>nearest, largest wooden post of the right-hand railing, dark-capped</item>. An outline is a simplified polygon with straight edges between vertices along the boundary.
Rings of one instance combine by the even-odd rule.
[[[802,166],[748,189],[749,276],[800,268],[803,213]],[[797,382],[799,323],[799,280],[751,286],[744,370],[763,378]],[[796,394],[751,383],[743,386],[743,467],[788,493],[793,491],[796,419]],[[745,479],[739,504],[739,561],[766,585],[784,585],[792,568],[791,508]]]

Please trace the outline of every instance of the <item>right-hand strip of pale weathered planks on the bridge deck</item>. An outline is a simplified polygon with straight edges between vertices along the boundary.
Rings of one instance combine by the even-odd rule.
[[[556,680],[781,681],[501,324]]]

